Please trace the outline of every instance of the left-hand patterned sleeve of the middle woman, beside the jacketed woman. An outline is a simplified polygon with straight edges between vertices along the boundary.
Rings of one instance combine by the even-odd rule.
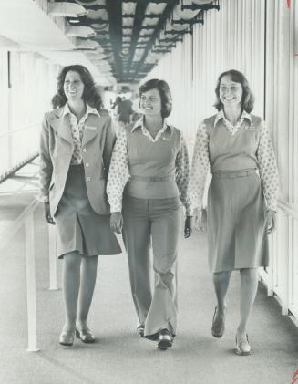
[[[127,136],[124,128],[119,130],[118,139],[116,140],[112,153],[111,162],[108,171],[108,202],[110,211],[121,212],[122,210],[122,193],[125,184],[128,181],[128,150]]]

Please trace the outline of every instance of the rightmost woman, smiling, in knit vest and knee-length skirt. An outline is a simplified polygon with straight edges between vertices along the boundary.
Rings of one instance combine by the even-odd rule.
[[[191,169],[191,197],[201,217],[206,176],[209,265],[217,296],[212,335],[222,337],[231,271],[241,275],[239,355],[249,355],[247,325],[258,287],[258,267],[268,265],[268,234],[275,228],[278,171],[269,131],[251,114],[254,98],[236,70],[221,73],[215,108],[197,132]]]

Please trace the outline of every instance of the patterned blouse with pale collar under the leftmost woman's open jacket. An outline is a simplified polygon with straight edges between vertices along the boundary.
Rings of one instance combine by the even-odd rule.
[[[71,165],[81,164],[83,161],[82,158],[82,140],[84,134],[84,124],[87,120],[89,114],[95,114],[99,116],[98,110],[90,107],[86,104],[86,113],[85,115],[77,121],[76,115],[74,115],[70,109],[68,104],[65,105],[63,116],[67,116],[69,119],[71,136],[74,143],[74,152],[70,161]]]

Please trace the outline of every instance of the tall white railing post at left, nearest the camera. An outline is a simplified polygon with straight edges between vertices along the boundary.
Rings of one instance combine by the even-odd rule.
[[[36,264],[34,252],[34,223],[33,213],[30,213],[25,222],[25,249],[26,249],[26,293],[28,315],[28,352],[36,352]]]

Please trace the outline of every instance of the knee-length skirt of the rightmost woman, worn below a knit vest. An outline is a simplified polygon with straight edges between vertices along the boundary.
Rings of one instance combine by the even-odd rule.
[[[268,265],[266,206],[255,170],[213,173],[207,216],[211,272]]]

